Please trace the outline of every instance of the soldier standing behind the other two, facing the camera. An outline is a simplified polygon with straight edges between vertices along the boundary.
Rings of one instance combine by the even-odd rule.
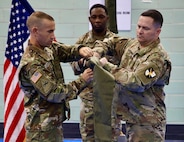
[[[92,26],[92,30],[82,35],[77,44],[83,44],[90,48],[93,48],[96,40],[103,40],[104,38],[109,38],[115,36],[107,28],[107,22],[109,20],[107,8],[102,4],[94,4],[90,8],[89,21]],[[109,56],[109,59],[115,63],[115,61]],[[71,66],[74,70],[75,75],[80,75],[88,67],[86,65],[86,59],[82,58],[78,62],[72,62]],[[83,141],[94,141],[94,98],[93,98],[93,83],[90,83],[87,88],[85,88],[80,93],[81,98],[81,111],[80,111],[80,133]],[[123,135],[121,131],[120,120],[117,122],[116,129],[117,135]]]

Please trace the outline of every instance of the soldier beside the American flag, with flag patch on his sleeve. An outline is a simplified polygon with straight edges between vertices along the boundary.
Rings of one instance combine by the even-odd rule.
[[[62,122],[66,119],[65,101],[75,99],[93,73],[87,69],[78,79],[65,84],[60,62],[90,57],[93,52],[82,45],[55,42],[55,22],[46,13],[32,13],[27,27],[30,40],[19,66],[19,81],[25,93],[27,113],[26,142],[61,142]]]

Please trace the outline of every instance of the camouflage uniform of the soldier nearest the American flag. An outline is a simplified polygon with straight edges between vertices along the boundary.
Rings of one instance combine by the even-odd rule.
[[[78,46],[53,42],[43,50],[28,45],[19,66],[19,80],[25,93],[27,142],[61,142],[65,101],[75,99],[86,86],[82,78],[64,84],[60,62],[80,59]]]

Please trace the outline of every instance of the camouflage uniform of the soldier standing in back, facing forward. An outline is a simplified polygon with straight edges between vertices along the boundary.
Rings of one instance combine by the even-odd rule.
[[[101,37],[96,37],[92,31],[87,32],[76,42],[77,44],[83,44],[87,47],[94,47],[96,40],[103,40],[104,38],[109,38],[115,34],[109,30],[106,31],[106,35]],[[110,56],[109,56],[110,57]],[[110,57],[111,58],[111,57]],[[111,58],[112,61],[112,58]],[[114,62],[113,62],[114,63]],[[88,67],[86,66],[86,60],[81,60],[78,62],[72,62],[71,66],[74,70],[75,75],[83,73],[83,71]],[[83,141],[94,141],[94,98],[93,98],[93,83],[90,83],[87,88],[85,88],[80,93],[80,98],[82,100],[81,112],[80,112],[80,133]]]

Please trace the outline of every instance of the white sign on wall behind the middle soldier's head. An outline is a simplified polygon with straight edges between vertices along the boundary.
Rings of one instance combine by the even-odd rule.
[[[105,4],[105,0],[89,0],[89,8],[96,3]],[[118,31],[131,30],[131,0],[116,0],[116,16]]]

